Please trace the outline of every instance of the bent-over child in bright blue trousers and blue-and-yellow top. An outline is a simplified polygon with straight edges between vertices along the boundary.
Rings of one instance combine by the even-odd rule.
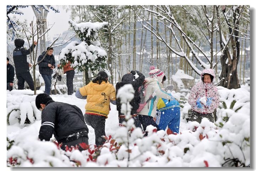
[[[179,133],[180,129],[180,103],[177,100],[160,98],[157,105],[156,124],[160,130],[165,130],[167,125],[172,132]]]

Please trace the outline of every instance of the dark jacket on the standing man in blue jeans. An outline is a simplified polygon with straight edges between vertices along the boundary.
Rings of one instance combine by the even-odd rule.
[[[44,55],[46,54],[46,52],[43,52],[37,59],[37,62],[41,61],[44,57]],[[40,74],[46,74],[46,75],[52,75],[53,74],[53,69],[50,69],[50,67],[48,66],[48,64],[51,64],[55,67],[55,59],[54,59],[54,55],[47,55],[44,57],[44,59],[42,60],[42,62],[38,63],[39,65],[39,73]]]

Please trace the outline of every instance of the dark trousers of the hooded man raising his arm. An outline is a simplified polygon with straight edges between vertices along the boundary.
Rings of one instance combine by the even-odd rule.
[[[30,72],[26,72],[26,73],[22,73],[22,74],[16,73],[16,76],[18,79],[18,90],[24,89],[24,84],[26,81],[28,86],[30,87],[30,90],[34,91],[34,82],[33,82]]]

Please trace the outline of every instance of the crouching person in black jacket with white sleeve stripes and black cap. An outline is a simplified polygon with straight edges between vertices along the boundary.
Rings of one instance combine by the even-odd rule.
[[[39,139],[49,141],[54,134],[61,148],[65,145],[78,145],[79,150],[84,150],[80,143],[88,144],[88,128],[79,107],[68,103],[55,102],[46,93],[37,95],[36,107],[42,111],[42,125],[39,130]]]

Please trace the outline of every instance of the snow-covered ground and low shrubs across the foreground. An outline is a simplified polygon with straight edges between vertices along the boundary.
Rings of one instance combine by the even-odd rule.
[[[201,124],[187,123],[183,115],[190,109],[186,101],[189,94],[184,97],[172,91],[175,98],[179,100],[182,98],[184,106],[181,111],[179,134],[168,135],[166,130],[155,132],[154,127],[149,126],[148,137],[143,137],[139,128],[132,128],[132,119],[127,123],[127,127],[119,127],[116,106],[111,104],[105,127],[107,142],[103,148],[95,149],[94,129],[88,126],[90,150],[82,152],[75,149],[59,150],[52,142],[38,140],[41,118],[38,110],[33,106],[36,96],[31,95],[30,90],[7,91],[7,114],[12,109],[19,108],[20,112],[17,110],[16,115],[12,116],[27,112],[31,121],[30,124],[22,124],[25,118],[21,117],[20,123],[16,118],[10,123],[11,125],[7,125],[9,139],[7,146],[10,145],[11,140],[14,140],[11,148],[7,150],[7,166],[222,167],[223,165],[229,167],[232,164],[248,166],[250,165],[250,87],[241,86],[236,90],[223,87],[218,89],[220,101],[223,102],[220,103],[221,109],[217,110],[219,118],[215,122],[216,125],[207,119],[203,119]],[[85,112],[86,100],[76,98],[74,94],[52,95],[52,98],[54,101],[76,105],[83,113]],[[36,118],[31,116],[31,112],[35,113]],[[129,138],[127,138],[128,130]],[[127,149],[128,142],[129,149]]]

